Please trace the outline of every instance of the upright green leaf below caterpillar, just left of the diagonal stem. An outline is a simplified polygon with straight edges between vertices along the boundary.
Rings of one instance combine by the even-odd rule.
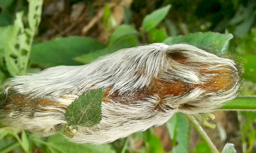
[[[167,123],[170,138],[173,138],[172,142],[175,141],[174,144],[177,142],[171,153],[189,153],[189,126],[187,119],[182,113],[175,113],[173,117],[174,119],[169,120]]]

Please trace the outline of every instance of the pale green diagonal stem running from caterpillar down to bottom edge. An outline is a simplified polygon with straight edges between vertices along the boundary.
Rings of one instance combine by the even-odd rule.
[[[217,150],[217,148],[214,146],[214,144],[212,143],[211,139],[208,137],[208,135],[206,134],[206,132],[204,131],[204,129],[199,125],[199,123],[197,122],[197,120],[192,116],[192,115],[187,115],[184,114],[189,121],[195,126],[195,128],[197,129],[199,135],[204,139],[204,141],[208,144],[208,147],[211,149],[212,153],[219,153],[219,151]]]

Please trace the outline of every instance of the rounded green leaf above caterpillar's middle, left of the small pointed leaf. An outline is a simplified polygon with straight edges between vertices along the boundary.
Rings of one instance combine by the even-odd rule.
[[[128,36],[136,36],[137,31],[134,26],[123,24],[118,26],[117,29],[113,32],[113,34],[109,38],[108,46],[113,46],[119,39],[128,37]]]

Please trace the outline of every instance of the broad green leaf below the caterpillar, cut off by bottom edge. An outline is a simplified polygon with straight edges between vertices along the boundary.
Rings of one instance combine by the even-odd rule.
[[[74,144],[61,134],[49,137],[47,143],[43,153],[115,153],[109,144]]]

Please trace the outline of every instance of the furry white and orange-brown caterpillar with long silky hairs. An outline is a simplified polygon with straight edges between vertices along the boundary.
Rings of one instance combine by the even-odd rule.
[[[53,135],[67,124],[66,108],[98,88],[106,90],[102,120],[94,127],[77,127],[70,141],[108,143],[160,126],[176,112],[211,112],[236,97],[239,69],[233,60],[187,44],[121,49],[84,66],[11,78],[0,97],[0,122]]]

